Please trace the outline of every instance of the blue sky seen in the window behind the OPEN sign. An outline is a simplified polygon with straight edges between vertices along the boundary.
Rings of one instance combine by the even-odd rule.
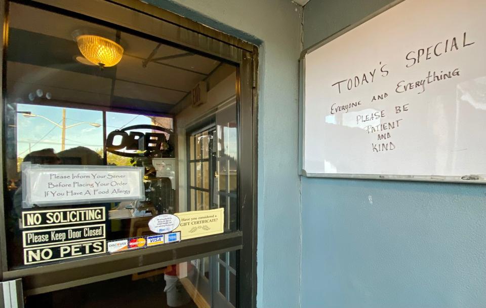
[[[55,123],[62,122],[62,107],[17,104],[17,111],[30,111]],[[66,129],[66,149],[76,146],[86,146],[93,150],[102,148],[103,112],[66,108],[66,126],[80,122],[97,123],[101,126],[96,128],[89,124],[79,124]],[[145,115],[106,112],[107,134],[122,127],[150,123],[150,118]],[[29,145],[30,151],[53,148],[55,152],[59,152],[61,131],[59,127],[41,117],[25,117],[17,113],[17,156],[25,157],[29,153]]]

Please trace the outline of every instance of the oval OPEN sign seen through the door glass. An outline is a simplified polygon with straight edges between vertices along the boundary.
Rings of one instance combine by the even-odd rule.
[[[151,130],[140,132],[134,130]],[[164,157],[171,156],[174,147],[174,131],[160,126],[140,124],[112,131],[106,137],[106,150],[110,153],[125,156],[139,157],[159,154]],[[116,138],[119,136],[120,138]],[[168,138],[169,136],[169,138]],[[114,144],[115,138],[119,143]]]

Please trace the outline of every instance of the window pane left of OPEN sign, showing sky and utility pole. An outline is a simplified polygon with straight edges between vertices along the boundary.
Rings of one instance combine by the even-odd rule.
[[[37,157],[32,163],[47,164],[49,155],[42,151],[52,149],[51,156],[57,156],[63,165],[103,165],[101,111],[17,104],[16,112],[19,163],[28,156]]]

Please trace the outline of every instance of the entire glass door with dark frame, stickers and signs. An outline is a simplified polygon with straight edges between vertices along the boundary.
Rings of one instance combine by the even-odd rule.
[[[32,307],[253,305],[252,53],[87,3],[7,3],[4,280]]]

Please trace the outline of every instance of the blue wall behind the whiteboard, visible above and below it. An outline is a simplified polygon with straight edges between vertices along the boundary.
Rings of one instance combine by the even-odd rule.
[[[311,0],[304,46],[390,2]],[[302,307],[482,307],[485,218],[483,185],[304,177]]]

